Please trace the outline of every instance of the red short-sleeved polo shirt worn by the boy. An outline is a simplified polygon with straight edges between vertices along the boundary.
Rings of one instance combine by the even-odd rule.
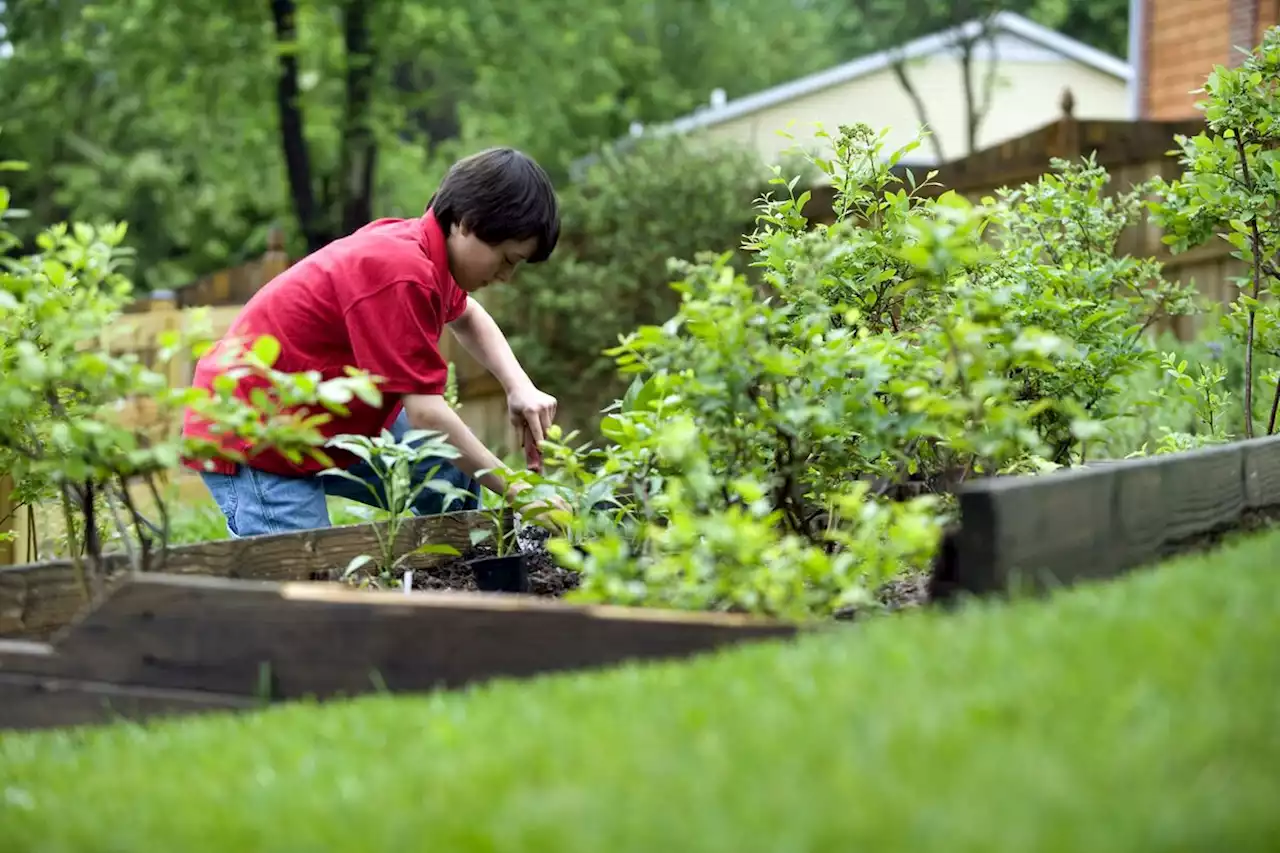
[[[192,384],[212,388],[214,377],[224,369],[218,353],[232,341],[251,345],[270,334],[280,342],[276,370],[316,370],[332,379],[344,375],[349,365],[381,377],[380,407],[353,400],[349,416],[334,415],[320,426],[326,438],[376,435],[394,420],[404,394],[444,393],[448,366],[440,357],[440,333],[445,323],[462,315],[466,302],[466,292],[449,274],[444,233],[430,210],[419,219],[379,219],[308,255],[255,293],[223,339],[196,364]],[[250,400],[259,387],[268,387],[268,382],[246,377],[236,396]],[[219,439],[264,471],[307,475],[323,470],[306,457],[294,465],[270,450],[250,453],[241,439],[215,437],[191,410],[183,418],[183,435]],[[342,451],[325,452],[340,467],[356,461]],[[184,462],[210,470],[198,460]],[[212,465],[215,471],[236,473],[236,462],[229,460],[214,460]]]

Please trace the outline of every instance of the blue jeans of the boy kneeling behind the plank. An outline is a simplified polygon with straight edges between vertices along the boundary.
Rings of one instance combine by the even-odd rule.
[[[401,411],[389,432],[401,441],[408,432],[408,419]],[[431,475],[431,470],[439,470]],[[385,503],[387,494],[374,469],[360,461],[347,469],[378,491],[378,501]],[[201,473],[218,508],[227,516],[227,529],[233,537],[255,537],[269,533],[291,533],[330,526],[326,496],[349,498],[367,506],[379,507],[367,488],[340,476],[280,476],[241,465],[236,474]],[[480,506],[480,484],[463,474],[449,460],[430,459],[415,471],[415,484],[422,479],[443,479],[466,489],[471,498],[454,500],[451,512],[475,510]],[[439,515],[444,512],[444,496],[422,489],[410,511],[413,515]]]

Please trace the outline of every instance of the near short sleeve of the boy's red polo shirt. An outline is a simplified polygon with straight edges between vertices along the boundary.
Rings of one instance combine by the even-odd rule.
[[[344,315],[353,366],[381,377],[387,393],[444,393],[442,301],[430,287],[396,282],[353,302]]]

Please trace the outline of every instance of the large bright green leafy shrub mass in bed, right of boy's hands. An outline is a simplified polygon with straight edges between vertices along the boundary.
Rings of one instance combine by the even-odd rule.
[[[758,280],[727,255],[682,265],[676,315],[611,351],[636,379],[594,482],[580,461],[572,479],[623,508],[576,514],[553,546],[585,571],[580,597],[864,605],[927,566],[964,480],[1078,462],[1156,357],[1142,330],[1188,307],[1158,268],[1112,256],[1137,193],[1103,199],[1092,163],[973,205],[897,178],[905,150],[869,128],[832,143],[815,163],[833,224],[777,178],[787,195],[760,202],[748,242]]]

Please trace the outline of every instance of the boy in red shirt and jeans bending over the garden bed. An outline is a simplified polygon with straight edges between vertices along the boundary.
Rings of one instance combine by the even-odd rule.
[[[192,384],[210,388],[219,371],[218,351],[228,341],[244,343],[261,334],[280,342],[275,369],[319,370],[328,379],[356,366],[381,377],[379,409],[358,400],[347,418],[321,425],[326,437],[376,435],[383,428],[401,438],[410,429],[444,433],[457,460],[433,460],[419,476],[440,466],[436,478],[471,493],[480,485],[511,498],[513,492],[493,469],[499,460],[444,401],[447,365],[438,341],[445,324],[463,347],[502,383],[517,429],[541,441],[556,416],[556,398],[539,391],[512,355],[502,330],[470,293],[511,279],[522,263],[545,261],[559,238],[556,192],[545,172],[526,155],[490,149],[453,164],[436,193],[416,219],[379,219],[329,243],[274,278],[241,311],[218,346],[196,365]],[[250,398],[253,379],[242,379],[237,397]],[[183,434],[218,439],[192,411]],[[326,494],[370,503],[358,483],[320,476],[306,459],[294,465],[270,450],[247,453],[229,437],[224,446],[247,461],[216,460],[200,471],[236,537],[329,526]],[[340,451],[326,451],[334,465],[378,485],[367,464]],[[476,473],[489,469],[483,476]],[[518,485],[518,484],[513,484]],[[416,515],[443,510],[442,496],[424,489]]]

